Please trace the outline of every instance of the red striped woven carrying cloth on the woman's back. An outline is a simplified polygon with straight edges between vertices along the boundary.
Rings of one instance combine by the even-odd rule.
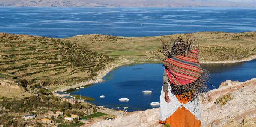
[[[198,63],[198,49],[165,59],[163,66],[168,79],[175,85],[195,82],[202,73],[202,67]]]

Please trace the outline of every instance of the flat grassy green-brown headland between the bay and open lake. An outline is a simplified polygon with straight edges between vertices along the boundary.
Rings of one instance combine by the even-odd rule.
[[[198,32],[193,34],[175,34],[169,37],[196,36],[199,42],[201,61],[243,60],[256,54],[256,32],[226,33]],[[66,38],[90,50],[109,55],[113,58],[123,57],[134,62],[159,61],[154,54],[160,45],[160,36],[153,37],[117,37],[109,35],[83,35]]]

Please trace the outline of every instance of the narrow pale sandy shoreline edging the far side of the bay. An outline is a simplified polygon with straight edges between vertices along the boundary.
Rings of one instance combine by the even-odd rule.
[[[119,59],[120,59],[120,61],[113,61],[113,62],[107,64],[105,69],[100,71],[101,72],[100,74],[98,72],[98,75],[96,77],[94,77],[93,80],[84,81],[84,82],[77,83],[76,85],[72,85],[72,86],[64,86],[63,88],[56,89],[56,90],[54,90],[52,92],[55,92],[55,91],[67,91],[68,89],[75,89],[75,88],[80,87],[80,86],[86,86],[86,85],[89,85],[89,84],[95,84],[95,83],[104,82],[103,77],[105,77],[113,69],[115,69],[117,67],[120,67],[120,66],[128,65],[128,64],[136,64],[133,61],[129,61],[129,60],[125,59],[125,58],[121,58],[120,57]],[[251,61],[251,60],[254,60],[254,59],[256,59],[256,55],[254,55],[254,56],[252,56],[250,58],[246,58],[244,60],[200,62],[200,64],[239,63],[239,62]],[[141,64],[143,64],[143,63],[141,63]]]

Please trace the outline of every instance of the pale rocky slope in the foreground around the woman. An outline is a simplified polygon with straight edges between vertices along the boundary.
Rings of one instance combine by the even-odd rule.
[[[232,93],[234,99],[221,106],[216,99]],[[202,127],[255,127],[256,126],[256,78],[246,82],[223,82],[218,89],[210,91],[211,101],[201,103]],[[92,127],[163,127],[158,123],[159,110],[130,112],[113,121],[102,120],[93,123]]]

